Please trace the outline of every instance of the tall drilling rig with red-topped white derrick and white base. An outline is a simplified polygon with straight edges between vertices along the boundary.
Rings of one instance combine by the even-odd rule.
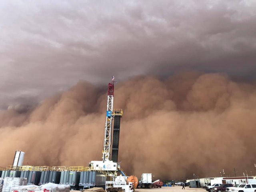
[[[106,111],[106,122],[104,129],[104,143],[102,150],[102,161],[91,161],[89,167],[91,170],[105,172],[109,176],[117,176],[117,172],[124,172],[120,169],[118,160],[118,145],[119,145],[119,130],[120,118],[122,117],[122,109],[113,109],[114,104],[114,76],[112,76],[111,83],[108,84],[108,100]],[[112,120],[114,119],[114,132],[113,132],[113,146],[112,146],[112,159],[110,149],[112,145]]]

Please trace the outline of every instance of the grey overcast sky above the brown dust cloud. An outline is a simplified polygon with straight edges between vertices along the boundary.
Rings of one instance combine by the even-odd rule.
[[[0,18],[2,110],[112,74],[256,74],[255,0],[2,0]]]

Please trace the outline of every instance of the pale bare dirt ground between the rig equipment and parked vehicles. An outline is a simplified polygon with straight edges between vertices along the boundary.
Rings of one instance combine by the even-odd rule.
[[[162,188],[150,188],[150,189],[136,189],[135,192],[207,192],[207,191],[202,188],[185,187],[185,189],[182,189],[182,186],[175,186],[175,187],[162,187]]]

